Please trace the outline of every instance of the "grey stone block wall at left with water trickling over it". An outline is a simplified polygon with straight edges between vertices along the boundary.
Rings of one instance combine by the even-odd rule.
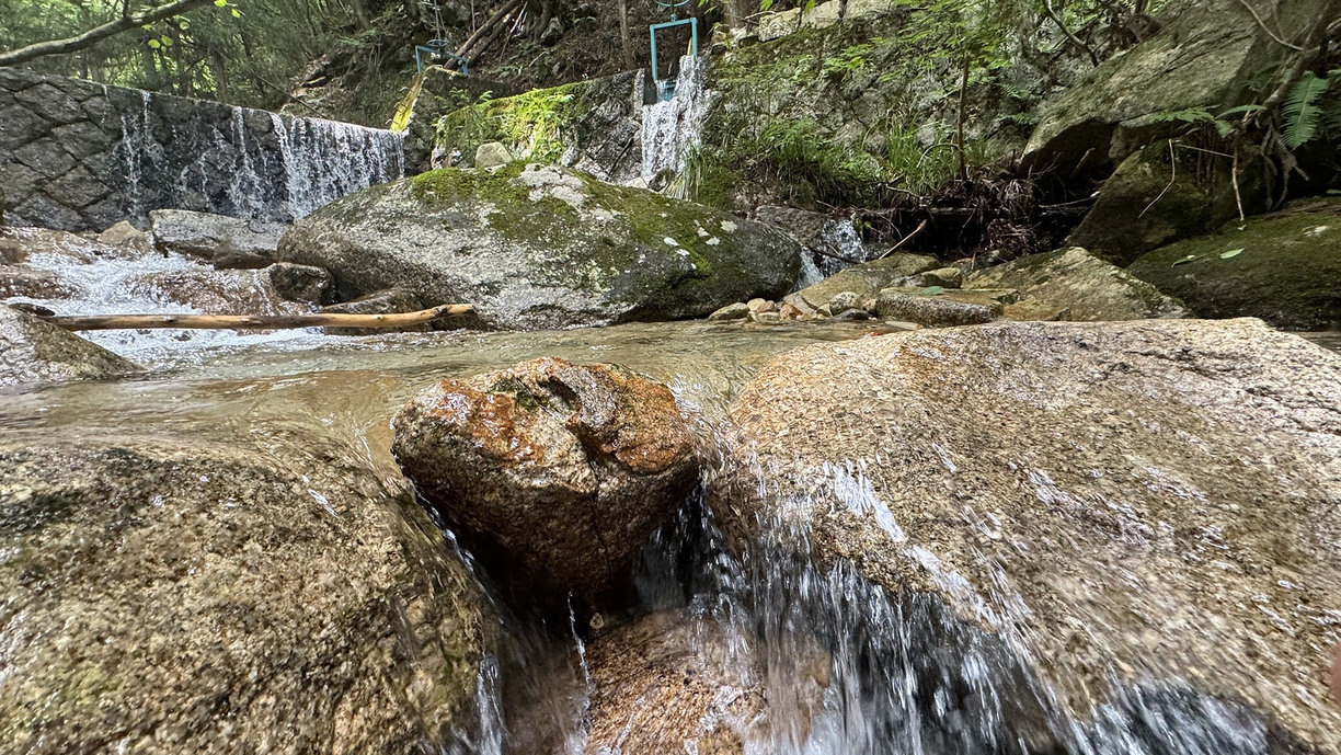
[[[404,172],[392,131],[0,68],[12,225],[143,227],[152,209],[290,223]]]

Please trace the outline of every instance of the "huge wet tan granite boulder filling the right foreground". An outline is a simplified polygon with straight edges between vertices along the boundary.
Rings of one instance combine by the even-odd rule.
[[[923,330],[778,357],[731,420],[711,504],[736,540],[791,522],[782,546],[945,606],[1041,680],[943,665],[976,721],[1055,751],[1122,711],[1101,742],[1341,751],[1341,355],[1252,319]]]

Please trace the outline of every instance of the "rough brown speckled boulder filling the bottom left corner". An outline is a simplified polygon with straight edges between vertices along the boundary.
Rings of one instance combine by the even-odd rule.
[[[496,620],[408,492],[304,451],[0,443],[0,752],[452,747]]]

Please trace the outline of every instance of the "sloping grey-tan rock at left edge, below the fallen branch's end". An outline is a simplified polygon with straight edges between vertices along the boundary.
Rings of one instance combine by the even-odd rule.
[[[97,343],[0,304],[0,385],[107,380],[139,370]]]

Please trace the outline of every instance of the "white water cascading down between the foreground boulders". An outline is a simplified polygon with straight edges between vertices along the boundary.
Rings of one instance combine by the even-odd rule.
[[[721,443],[720,436],[705,441]],[[723,676],[735,683],[724,685],[720,697],[740,695],[742,684],[763,691],[760,716],[725,721],[746,755],[1285,751],[1261,719],[1176,677],[1121,685],[1113,675],[1106,701],[1088,713],[1067,709],[1039,676],[1038,658],[1014,637],[1015,614],[1027,612],[1019,595],[1000,585],[978,594],[933,554],[909,543],[858,469],[829,468],[825,475],[815,484],[831,498],[780,502],[763,515],[759,534],[739,555],[696,493],[649,540],[637,574],[640,612],[681,609],[715,628],[691,633],[704,644],[689,654],[712,656],[725,666]],[[813,561],[811,532],[803,522],[815,502],[833,498],[874,516],[889,547],[957,591],[956,599],[974,606],[970,613],[976,618],[933,595],[890,594],[846,559]],[[583,640],[574,632],[569,642],[571,661],[558,665],[570,679],[557,679],[551,660],[524,665],[522,679],[512,680],[540,688],[532,695],[550,707],[539,720],[523,712],[514,721],[559,730],[567,746],[558,751],[565,754],[605,755],[582,736],[590,724],[591,691]],[[535,652],[536,645],[528,649]],[[704,731],[721,724],[716,717],[703,720]],[[528,751],[516,750],[515,738],[508,743],[512,747],[504,752]],[[693,742],[675,751],[692,752]]]

